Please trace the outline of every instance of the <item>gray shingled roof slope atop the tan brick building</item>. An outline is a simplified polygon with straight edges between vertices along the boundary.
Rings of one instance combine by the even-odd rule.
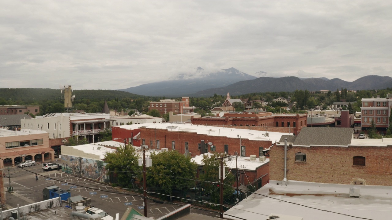
[[[301,129],[294,145],[347,146],[351,144],[353,128],[305,127]]]

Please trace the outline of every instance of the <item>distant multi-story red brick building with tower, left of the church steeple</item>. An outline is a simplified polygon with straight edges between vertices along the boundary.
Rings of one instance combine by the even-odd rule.
[[[174,99],[161,99],[159,102],[150,102],[148,110],[157,110],[161,115],[168,112],[174,112],[175,114],[187,114],[192,113],[193,108],[189,107],[189,97],[182,97],[181,101]]]

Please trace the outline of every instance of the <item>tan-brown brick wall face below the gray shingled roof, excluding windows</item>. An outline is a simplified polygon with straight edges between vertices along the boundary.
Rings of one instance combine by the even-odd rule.
[[[306,153],[296,162],[295,153]],[[353,157],[366,158],[365,166],[353,166]],[[392,185],[392,146],[287,146],[287,179],[305,182],[350,184],[360,178],[367,185]],[[284,146],[270,149],[270,179],[283,180]]]

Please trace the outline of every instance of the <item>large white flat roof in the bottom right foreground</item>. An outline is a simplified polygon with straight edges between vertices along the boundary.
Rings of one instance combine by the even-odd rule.
[[[261,195],[250,195],[226,211],[223,217],[266,219],[271,213],[276,213],[300,216],[304,220],[358,220],[356,217],[390,219],[392,186],[355,186],[360,190],[359,198],[349,197],[350,186],[298,181],[289,181],[287,186],[282,186],[282,181],[270,180],[269,184],[256,191]]]

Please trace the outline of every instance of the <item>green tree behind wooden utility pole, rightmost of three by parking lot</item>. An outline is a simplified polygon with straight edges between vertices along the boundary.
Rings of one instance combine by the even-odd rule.
[[[220,201],[220,177],[219,177],[219,166],[220,160],[216,160],[216,158],[221,157],[220,153],[214,153],[210,156],[203,155],[203,172],[200,174],[200,180],[202,181],[200,185],[203,187],[205,195],[211,196],[212,203],[219,204]],[[232,173],[230,173],[229,169],[227,169],[227,165],[223,162],[223,166],[226,167],[225,171],[225,179],[223,180],[223,200],[228,201],[230,196],[233,195],[234,188],[232,184],[235,181],[235,177]],[[221,186],[220,186],[221,187]]]

